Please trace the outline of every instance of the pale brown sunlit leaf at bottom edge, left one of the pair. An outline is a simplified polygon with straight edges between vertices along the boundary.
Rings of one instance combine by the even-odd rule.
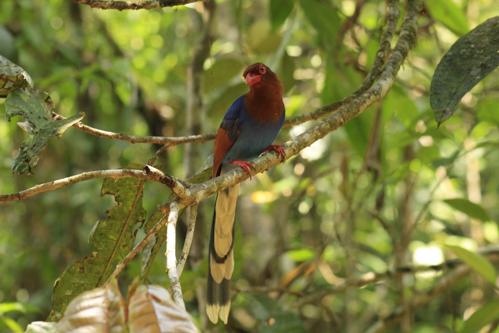
[[[57,323],[57,332],[126,332],[125,302],[116,279],[72,300]]]

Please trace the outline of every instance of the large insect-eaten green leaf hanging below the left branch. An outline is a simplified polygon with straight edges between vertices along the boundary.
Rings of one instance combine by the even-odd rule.
[[[138,164],[126,169],[140,169]],[[60,317],[67,304],[77,295],[102,286],[133,247],[137,224],[145,220],[142,208],[142,180],[106,178],[101,195],[111,194],[117,205],[107,211],[107,220],[97,221],[88,240],[95,251],[81,262],[72,264],[57,279],[52,293],[50,318]]]

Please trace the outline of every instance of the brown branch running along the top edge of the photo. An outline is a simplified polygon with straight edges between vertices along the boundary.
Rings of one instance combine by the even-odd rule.
[[[92,8],[101,9],[155,9],[163,7],[173,7],[184,5],[199,0],[135,0],[135,1],[114,1],[114,0],[73,0],[79,4],[86,4]]]

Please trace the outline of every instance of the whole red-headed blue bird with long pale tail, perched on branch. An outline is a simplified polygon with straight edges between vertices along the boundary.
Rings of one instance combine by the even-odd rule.
[[[241,167],[251,178],[249,160],[284,150],[273,145],[284,123],[283,88],[277,75],[261,62],[243,72],[250,91],[234,101],[215,137],[213,178]],[[231,308],[231,276],[234,271],[234,222],[239,184],[217,193],[210,234],[206,313],[214,324],[219,316],[227,324]]]

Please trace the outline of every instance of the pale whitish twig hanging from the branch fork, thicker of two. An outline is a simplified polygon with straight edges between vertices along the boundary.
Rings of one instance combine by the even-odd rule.
[[[177,272],[177,257],[175,255],[176,227],[179,218],[179,204],[175,201],[170,203],[170,213],[166,222],[166,273],[170,279],[170,289],[173,294],[173,301],[182,309],[186,309],[182,288],[180,287],[179,274]]]

